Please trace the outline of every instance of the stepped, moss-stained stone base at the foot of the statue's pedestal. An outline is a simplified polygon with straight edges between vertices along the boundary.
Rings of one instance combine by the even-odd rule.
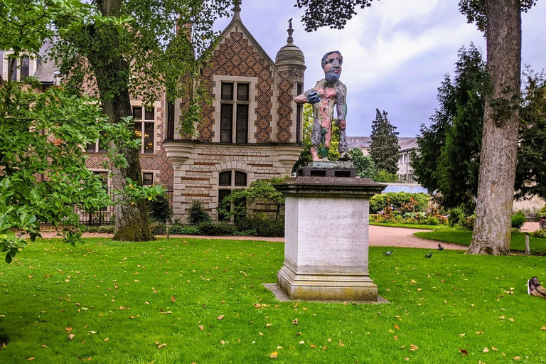
[[[378,286],[366,274],[302,274],[284,265],[277,284],[292,300],[378,301]]]

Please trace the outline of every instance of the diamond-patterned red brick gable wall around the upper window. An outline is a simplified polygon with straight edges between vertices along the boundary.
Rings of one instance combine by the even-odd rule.
[[[224,38],[223,43],[214,50],[212,62],[203,70],[205,77],[205,87],[208,88],[210,95],[213,95],[213,75],[229,75],[243,77],[257,77],[257,96],[258,104],[256,113],[256,134],[257,144],[271,142],[271,122],[272,122],[272,84],[273,78],[267,61],[264,60],[254,48],[249,44],[249,40],[243,38],[240,32],[231,32]],[[253,100],[251,100],[253,101]],[[205,105],[203,107],[203,122],[198,128],[198,141],[212,142],[213,140],[213,106]],[[184,138],[185,139],[185,138]],[[187,140],[187,139],[186,139]]]

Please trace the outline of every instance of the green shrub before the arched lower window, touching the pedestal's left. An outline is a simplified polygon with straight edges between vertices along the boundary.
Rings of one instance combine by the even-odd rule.
[[[236,218],[244,218],[247,215],[246,206],[259,201],[275,206],[275,220],[278,221],[281,209],[284,206],[284,195],[277,191],[274,185],[281,183],[287,178],[288,176],[284,178],[259,179],[250,183],[250,186],[247,188],[233,190],[220,202],[216,210],[218,210],[219,215],[225,217],[235,216]],[[240,204],[240,201],[243,200],[246,203]],[[235,205],[235,209],[230,208],[232,204]]]

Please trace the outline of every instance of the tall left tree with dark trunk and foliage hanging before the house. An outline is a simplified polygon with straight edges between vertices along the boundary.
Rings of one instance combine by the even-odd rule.
[[[93,0],[102,18],[79,31],[63,31],[55,59],[70,75],[73,90],[96,85],[109,120],[132,116],[131,97],[151,105],[166,90],[169,100],[189,95],[181,132],[192,134],[206,97],[200,83],[200,63],[215,41],[213,22],[226,14],[230,0]],[[105,21],[112,19],[113,21]],[[178,34],[178,28],[189,24]],[[63,21],[58,21],[63,29]],[[198,58],[196,58],[198,56]],[[142,183],[139,151],[123,148],[128,166],[113,167],[113,186],[127,178]],[[116,240],[152,240],[144,201],[116,207]]]

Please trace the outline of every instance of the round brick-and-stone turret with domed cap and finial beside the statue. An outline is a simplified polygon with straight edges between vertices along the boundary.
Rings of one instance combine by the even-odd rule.
[[[277,141],[279,143],[302,142],[303,107],[296,105],[294,97],[304,92],[304,73],[306,69],[304,53],[294,44],[292,21],[287,30],[287,44],[275,57],[277,65]]]

